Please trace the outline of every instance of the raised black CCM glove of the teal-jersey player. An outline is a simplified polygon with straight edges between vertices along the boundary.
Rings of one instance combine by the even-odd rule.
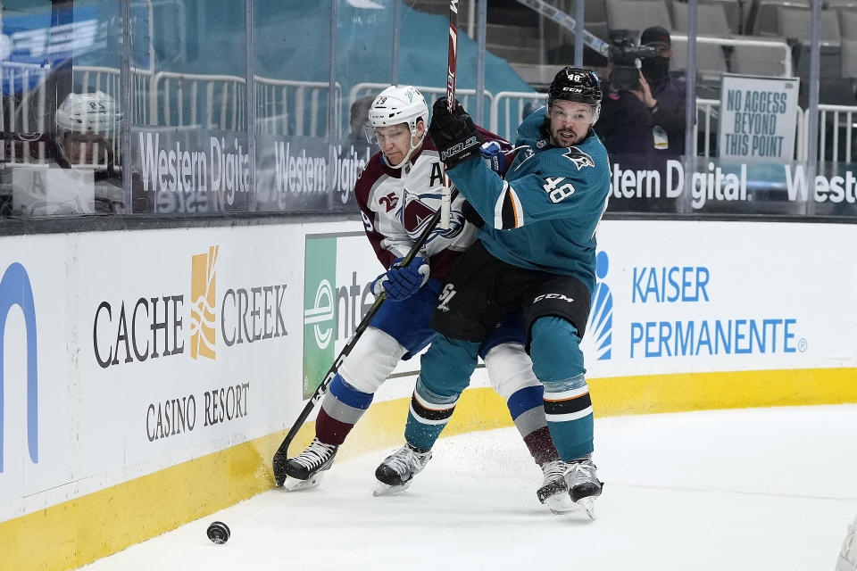
[[[482,136],[457,99],[452,113],[446,109],[446,97],[440,97],[432,105],[431,113],[428,137],[437,147],[440,160],[444,161],[447,169],[454,169],[463,161],[482,156],[479,151]]]

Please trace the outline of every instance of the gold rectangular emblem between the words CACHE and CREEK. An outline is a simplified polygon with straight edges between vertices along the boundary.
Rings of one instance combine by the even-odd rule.
[[[215,278],[217,254],[220,246],[212,246],[208,253],[193,256],[191,261],[190,299],[190,356],[214,360],[217,329],[214,327],[214,308],[217,305]]]

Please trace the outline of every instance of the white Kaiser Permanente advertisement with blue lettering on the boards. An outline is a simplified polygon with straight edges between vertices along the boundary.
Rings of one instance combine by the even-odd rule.
[[[835,244],[854,231],[603,221],[581,344],[587,376],[852,367],[857,305],[842,293],[857,266]]]

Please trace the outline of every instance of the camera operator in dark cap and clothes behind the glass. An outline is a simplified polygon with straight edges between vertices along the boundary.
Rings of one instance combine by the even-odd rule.
[[[684,153],[686,83],[670,75],[667,29],[645,29],[640,46],[636,36],[632,30],[611,32],[611,74],[597,131],[608,152],[634,155],[625,161],[640,165]]]

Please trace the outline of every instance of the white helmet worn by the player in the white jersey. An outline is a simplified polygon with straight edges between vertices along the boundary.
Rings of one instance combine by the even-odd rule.
[[[404,159],[397,165],[391,165],[394,169],[399,169],[404,165],[411,154],[422,145],[423,139],[426,137],[424,131],[422,137],[416,145],[413,144],[414,137],[417,137],[417,122],[422,120],[423,124],[428,128],[428,105],[426,98],[422,96],[420,90],[412,86],[390,86],[382,91],[375,101],[372,102],[369,108],[370,127],[367,128],[367,136],[370,143],[375,140],[375,129],[379,127],[391,127],[400,123],[405,123],[411,131],[411,149],[405,154]]]

